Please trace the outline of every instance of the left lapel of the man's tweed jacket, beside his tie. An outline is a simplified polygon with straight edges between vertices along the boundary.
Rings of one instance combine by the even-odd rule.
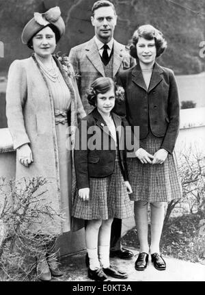
[[[94,41],[94,38],[92,38],[90,42],[88,42],[87,47],[85,48],[85,52],[87,58],[90,60],[90,62],[92,62],[94,67],[98,70],[102,77],[105,77],[105,70],[102,66],[102,60],[100,58],[100,54],[98,53],[98,48],[96,42]]]

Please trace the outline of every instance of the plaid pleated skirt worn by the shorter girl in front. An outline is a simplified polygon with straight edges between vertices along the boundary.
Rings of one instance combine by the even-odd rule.
[[[74,195],[72,216],[85,220],[108,218],[128,218],[133,216],[133,204],[130,201],[120,164],[115,161],[112,175],[103,178],[90,178],[90,196],[88,201],[79,198],[78,188]]]

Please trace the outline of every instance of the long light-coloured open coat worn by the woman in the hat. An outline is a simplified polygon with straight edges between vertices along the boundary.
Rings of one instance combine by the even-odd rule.
[[[77,126],[77,115],[82,118],[85,112],[75,79],[72,75],[68,77],[56,58],[55,62],[70,90],[69,117],[71,129],[73,129],[71,131],[72,146],[74,146],[73,134],[74,126]],[[46,177],[49,183],[40,188],[38,193],[47,190],[43,194],[44,202],[59,214],[61,209],[59,162],[53,100],[46,78],[34,56],[25,60],[15,60],[10,66],[6,92],[6,115],[14,140],[14,149],[23,144],[29,144],[33,153],[33,163],[29,168],[20,164],[16,157],[16,181],[23,178],[28,180],[32,177]],[[74,172],[74,167],[72,170]],[[72,181],[75,185],[74,173]],[[61,233],[59,218],[51,222],[51,218],[47,220],[42,216],[40,222],[40,225],[36,225],[36,230],[40,229],[41,233]]]

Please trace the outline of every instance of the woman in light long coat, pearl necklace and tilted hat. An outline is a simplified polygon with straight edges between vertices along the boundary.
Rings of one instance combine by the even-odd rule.
[[[46,177],[44,202],[63,218],[42,216],[33,229],[40,235],[59,235],[70,231],[71,191],[75,183],[72,167],[72,140],[68,126],[77,126],[77,116],[85,116],[72,66],[67,72],[52,55],[63,36],[65,24],[58,7],[44,14],[34,13],[25,25],[22,41],[34,53],[25,60],[15,60],[8,73],[6,114],[14,140],[16,181]],[[70,139],[70,138],[69,138]],[[46,192],[45,192],[46,191]],[[37,264],[38,277],[44,281],[61,275],[49,266],[46,257]]]

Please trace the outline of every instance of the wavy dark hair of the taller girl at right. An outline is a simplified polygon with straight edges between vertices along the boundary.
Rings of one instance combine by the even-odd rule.
[[[163,54],[165,49],[167,48],[167,41],[163,37],[163,34],[158,29],[155,29],[152,25],[141,25],[136,31],[134,31],[132,44],[130,46],[131,56],[134,58],[137,57],[137,49],[136,45],[139,40],[139,37],[144,38],[146,40],[155,41],[156,46],[156,57],[159,57]]]

